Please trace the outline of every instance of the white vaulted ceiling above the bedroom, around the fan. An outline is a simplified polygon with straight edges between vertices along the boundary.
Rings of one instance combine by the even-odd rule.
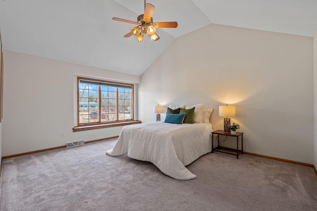
[[[174,39],[211,23],[314,37],[317,0],[147,0],[158,29],[157,42],[124,38],[144,0],[0,0],[4,49],[142,75]],[[147,49],[145,51],[145,48]]]

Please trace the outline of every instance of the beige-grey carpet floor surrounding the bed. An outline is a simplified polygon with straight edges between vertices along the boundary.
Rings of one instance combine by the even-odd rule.
[[[116,139],[4,159],[1,211],[316,211],[312,168],[209,153],[166,176],[149,162],[105,154]]]

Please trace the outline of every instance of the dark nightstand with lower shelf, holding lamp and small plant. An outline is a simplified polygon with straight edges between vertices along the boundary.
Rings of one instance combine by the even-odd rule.
[[[216,134],[218,136],[217,141],[218,141],[218,146],[213,148],[213,134]],[[233,136],[237,138],[237,149],[231,149],[231,148],[227,148],[227,147],[221,147],[219,145],[219,135],[227,135],[227,136]],[[230,154],[230,155],[235,155],[237,156],[237,159],[239,159],[239,155],[243,154],[243,132],[236,132],[235,135],[231,134],[231,133],[225,133],[223,130],[216,130],[211,132],[211,153],[213,153],[213,151],[216,152],[222,152],[222,153],[226,153],[226,154]],[[239,150],[239,137],[241,137],[241,150]]]

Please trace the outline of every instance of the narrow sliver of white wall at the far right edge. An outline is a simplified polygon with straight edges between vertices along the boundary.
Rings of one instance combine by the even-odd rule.
[[[317,32],[314,37],[314,165],[317,168]]]

